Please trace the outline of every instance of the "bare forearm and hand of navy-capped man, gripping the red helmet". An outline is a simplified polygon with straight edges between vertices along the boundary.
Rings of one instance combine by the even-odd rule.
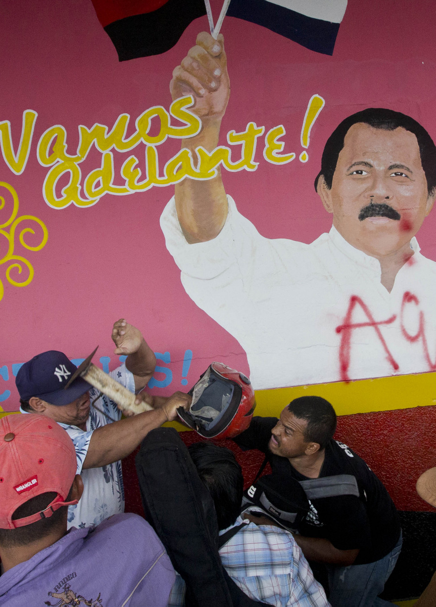
[[[139,413],[97,428],[92,434],[83,468],[99,468],[127,457],[150,430],[176,419],[178,407],[189,407],[191,400],[189,395],[176,392],[155,411]]]

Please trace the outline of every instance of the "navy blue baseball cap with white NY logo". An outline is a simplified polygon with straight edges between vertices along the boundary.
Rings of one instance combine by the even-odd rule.
[[[52,405],[68,405],[92,388],[78,377],[64,389],[76,370],[76,365],[63,352],[49,350],[36,354],[22,365],[16,375],[15,384],[20,398],[29,401],[36,396]]]

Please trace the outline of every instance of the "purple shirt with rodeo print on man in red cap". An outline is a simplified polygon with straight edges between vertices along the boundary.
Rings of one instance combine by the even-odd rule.
[[[166,607],[175,579],[161,541],[143,518],[116,514],[73,529],[0,577],[0,605]]]

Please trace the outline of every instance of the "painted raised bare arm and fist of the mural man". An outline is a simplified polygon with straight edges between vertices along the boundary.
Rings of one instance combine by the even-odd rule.
[[[212,152],[218,146],[221,120],[230,95],[224,38],[215,40],[206,32],[196,39],[196,46],[189,50],[181,64],[173,71],[170,83],[173,100],[193,95],[195,104],[190,108],[202,123],[201,132],[184,139],[182,148],[198,157],[195,149],[202,146]],[[223,229],[227,218],[227,197],[221,179],[221,171],[215,178],[198,181],[185,178],[175,186],[178,220],[184,237],[189,243],[212,240]]]

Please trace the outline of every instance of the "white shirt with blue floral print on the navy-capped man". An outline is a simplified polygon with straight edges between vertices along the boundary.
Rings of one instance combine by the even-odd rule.
[[[111,371],[109,375],[124,385],[130,392],[135,392],[135,380],[132,373],[127,370],[126,365]],[[98,390],[90,390],[91,402],[98,396]],[[95,402],[95,406],[103,413],[91,407],[89,418],[86,422],[86,430],[81,430],[77,426],[68,424],[59,424],[72,438],[77,456],[77,473],[82,476],[84,492],[76,506],[69,506],[68,509],[68,527],[89,527],[98,525],[107,517],[119,512],[124,512],[124,486],[122,484],[121,461],[116,461],[109,466],[101,468],[87,468],[82,470],[82,465],[88,451],[92,433],[96,428],[111,424],[112,421],[118,421],[121,418],[121,412],[116,407],[115,402],[107,396],[100,396]]]

